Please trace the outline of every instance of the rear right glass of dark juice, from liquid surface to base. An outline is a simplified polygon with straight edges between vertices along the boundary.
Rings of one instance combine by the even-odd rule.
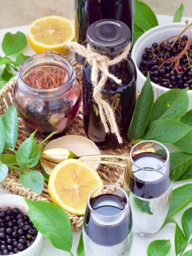
[[[133,230],[153,235],[161,229],[169,210],[172,180],[166,159],[151,152],[132,158],[125,172],[124,189],[129,193]]]

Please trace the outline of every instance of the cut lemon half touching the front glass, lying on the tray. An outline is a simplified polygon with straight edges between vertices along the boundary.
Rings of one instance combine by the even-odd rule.
[[[53,203],[71,214],[84,215],[89,194],[102,185],[99,174],[90,165],[77,159],[67,159],[53,169],[49,193]]]

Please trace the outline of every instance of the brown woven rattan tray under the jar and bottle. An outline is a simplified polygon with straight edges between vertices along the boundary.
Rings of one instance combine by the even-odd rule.
[[[71,61],[73,64],[76,76],[81,81],[81,68],[82,66],[77,64],[75,61]],[[17,77],[14,77],[8,84],[6,84],[3,89],[0,91],[0,115],[3,115],[7,107],[11,105],[13,102],[13,89],[14,85],[17,82]],[[25,127],[21,121],[19,121],[19,131],[18,131],[18,141],[16,148],[22,143],[23,140],[27,139],[31,134],[31,131]],[[85,137],[84,129],[83,129],[83,115],[82,109],[79,110],[78,115],[75,118],[74,123],[68,127],[66,130],[66,135],[81,135]],[[36,137],[35,139],[37,142],[42,141],[44,137]],[[45,144],[43,145],[45,146]],[[131,145],[127,143],[126,145],[115,149],[115,150],[101,150],[103,154],[124,154],[130,150]],[[8,151],[5,150],[5,153],[9,154]],[[41,170],[41,166],[38,165],[37,169]],[[103,180],[103,183],[106,184],[113,184],[116,186],[122,186],[123,183],[123,175],[124,169],[122,167],[116,165],[100,165],[98,169],[98,173]],[[10,170],[8,177],[0,183],[0,187],[5,188],[7,191],[10,191],[13,194],[17,194],[20,196],[27,197],[32,200],[43,200],[43,201],[50,201],[51,197],[49,195],[49,191],[47,189],[47,183],[45,183],[45,187],[43,189],[43,193],[41,195],[35,194],[28,188],[23,187],[20,183],[18,183],[20,173],[16,170]],[[68,216],[71,221],[71,226],[73,230],[78,231],[82,228],[83,225],[83,217],[77,217],[76,215],[72,215],[68,213]]]

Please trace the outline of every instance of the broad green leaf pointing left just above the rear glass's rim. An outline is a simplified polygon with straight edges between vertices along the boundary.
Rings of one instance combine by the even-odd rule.
[[[156,140],[161,143],[173,143],[185,136],[191,127],[171,119],[159,119],[152,122],[142,137],[144,140]]]

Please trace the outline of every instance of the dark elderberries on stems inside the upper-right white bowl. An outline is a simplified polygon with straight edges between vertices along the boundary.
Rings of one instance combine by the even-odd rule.
[[[192,90],[192,45],[187,50],[187,54],[179,59],[179,65],[175,63],[175,58],[185,50],[188,37],[182,36],[177,42],[164,41],[161,44],[153,43],[150,48],[145,49],[140,63],[140,71],[143,75],[150,74],[152,82],[169,89]]]

